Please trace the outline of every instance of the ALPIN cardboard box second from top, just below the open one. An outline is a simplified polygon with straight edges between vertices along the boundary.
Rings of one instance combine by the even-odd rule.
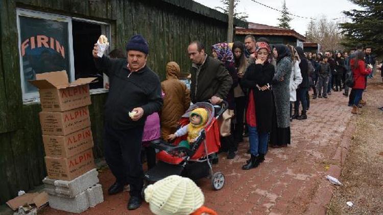
[[[43,135],[66,136],[90,126],[88,106],[65,112],[40,112]]]

